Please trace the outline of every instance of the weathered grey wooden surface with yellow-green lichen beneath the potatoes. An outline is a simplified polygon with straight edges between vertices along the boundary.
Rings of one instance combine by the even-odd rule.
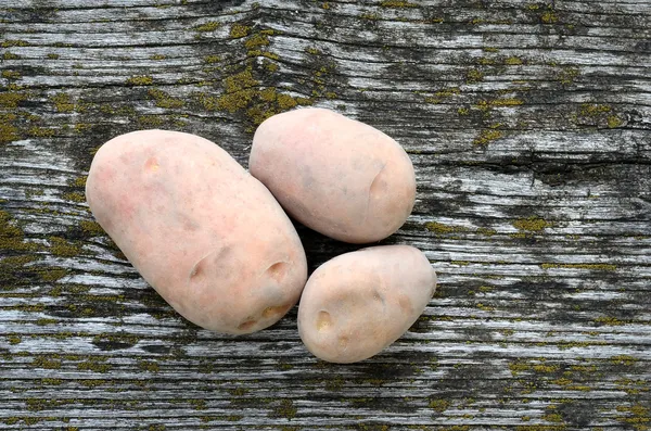
[[[0,0],[0,428],[651,428],[651,2]],[[224,337],[93,224],[93,151],[167,128],[245,164],[297,105],[395,137],[441,290],[381,355],[295,309]],[[301,228],[311,268],[354,246]]]

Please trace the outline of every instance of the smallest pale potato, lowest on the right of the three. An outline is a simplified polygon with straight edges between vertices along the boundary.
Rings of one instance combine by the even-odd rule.
[[[367,359],[413,325],[435,289],[436,272],[412,246],[342,254],[307,280],[298,304],[301,339],[331,363]]]

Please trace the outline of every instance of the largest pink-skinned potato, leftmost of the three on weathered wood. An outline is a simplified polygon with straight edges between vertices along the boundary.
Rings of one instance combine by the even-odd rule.
[[[254,332],[298,301],[307,264],[296,230],[206,139],[165,130],[112,139],[92,161],[86,197],[142,277],[203,328]]]

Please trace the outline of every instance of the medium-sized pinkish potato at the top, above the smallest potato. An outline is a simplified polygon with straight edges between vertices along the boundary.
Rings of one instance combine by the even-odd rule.
[[[413,207],[416,176],[403,148],[323,109],[265,121],[253,138],[248,168],[291,216],[340,241],[386,238]]]

